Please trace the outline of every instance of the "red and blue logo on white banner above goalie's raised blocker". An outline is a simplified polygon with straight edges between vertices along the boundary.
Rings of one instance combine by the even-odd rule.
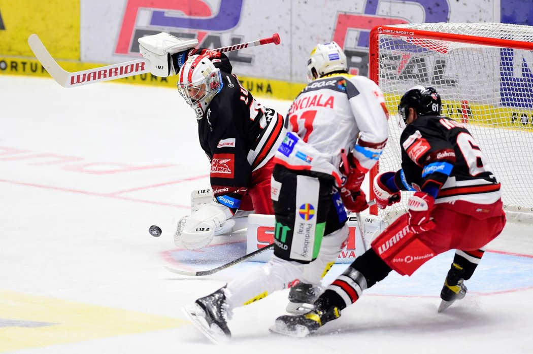
[[[219,9],[211,9],[206,0],[128,0],[120,32],[116,54],[139,53],[138,39],[155,35],[161,28],[178,38],[197,38],[203,47],[222,47],[220,35],[237,26],[240,21],[244,0],[221,0]],[[191,33],[196,31],[196,34]],[[232,44],[242,38],[232,37]],[[233,60],[251,62],[249,57],[232,54]]]

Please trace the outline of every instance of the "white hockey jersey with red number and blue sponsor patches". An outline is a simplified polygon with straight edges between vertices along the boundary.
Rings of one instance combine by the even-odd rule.
[[[332,175],[340,187],[341,150],[351,151],[357,168],[367,172],[385,147],[387,118],[383,93],[374,81],[338,73],[321,77],[290,107],[288,133],[274,160],[290,169]]]

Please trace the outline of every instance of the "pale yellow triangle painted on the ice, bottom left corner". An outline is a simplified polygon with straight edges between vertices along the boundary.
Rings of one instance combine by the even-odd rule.
[[[0,352],[165,330],[187,321],[0,291]]]

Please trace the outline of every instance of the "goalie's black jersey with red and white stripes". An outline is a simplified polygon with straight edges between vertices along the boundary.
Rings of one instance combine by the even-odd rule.
[[[219,67],[216,60],[213,64]],[[258,103],[235,76],[220,69],[223,86],[198,120],[198,136],[211,161],[215,197],[238,209],[252,172],[261,169],[281,143],[283,118]]]

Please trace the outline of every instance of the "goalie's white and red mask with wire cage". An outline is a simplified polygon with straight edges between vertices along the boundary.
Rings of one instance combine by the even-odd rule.
[[[220,69],[206,56],[193,55],[178,73],[177,90],[201,119],[213,97],[222,89]]]

